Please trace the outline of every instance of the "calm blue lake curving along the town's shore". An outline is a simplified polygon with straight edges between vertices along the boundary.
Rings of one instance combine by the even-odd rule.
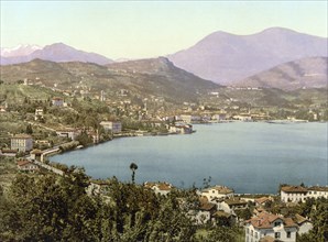
[[[94,178],[226,185],[242,194],[275,194],[278,185],[327,185],[327,123],[195,124],[193,134],[114,139],[51,157]]]

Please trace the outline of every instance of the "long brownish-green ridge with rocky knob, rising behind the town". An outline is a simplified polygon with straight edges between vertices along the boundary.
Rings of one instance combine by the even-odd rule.
[[[132,66],[139,66],[134,68]],[[54,63],[34,59],[29,63],[1,66],[1,79],[32,82],[74,90],[87,86],[91,91],[108,94],[125,89],[139,97],[163,97],[170,102],[196,100],[199,94],[219,87],[175,67],[166,58],[143,59],[101,66],[91,63]]]

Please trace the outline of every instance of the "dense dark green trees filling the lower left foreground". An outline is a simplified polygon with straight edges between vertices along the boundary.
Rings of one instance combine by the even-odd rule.
[[[167,197],[110,179],[105,197],[89,196],[88,177],[18,175],[0,198],[1,241],[193,241],[189,193]],[[193,194],[193,193],[192,193]],[[184,201],[182,204],[182,201]]]

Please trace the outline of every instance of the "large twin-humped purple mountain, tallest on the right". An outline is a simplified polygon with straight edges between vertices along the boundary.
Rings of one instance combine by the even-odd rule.
[[[231,84],[282,63],[314,56],[327,56],[327,38],[272,28],[252,35],[215,32],[167,57],[201,78]]]

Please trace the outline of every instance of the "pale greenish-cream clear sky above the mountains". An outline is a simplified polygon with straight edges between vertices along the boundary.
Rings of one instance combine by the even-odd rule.
[[[216,31],[248,35],[282,26],[327,37],[327,0],[0,0],[0,46],[65,43],[109,58],[188,48]]]

